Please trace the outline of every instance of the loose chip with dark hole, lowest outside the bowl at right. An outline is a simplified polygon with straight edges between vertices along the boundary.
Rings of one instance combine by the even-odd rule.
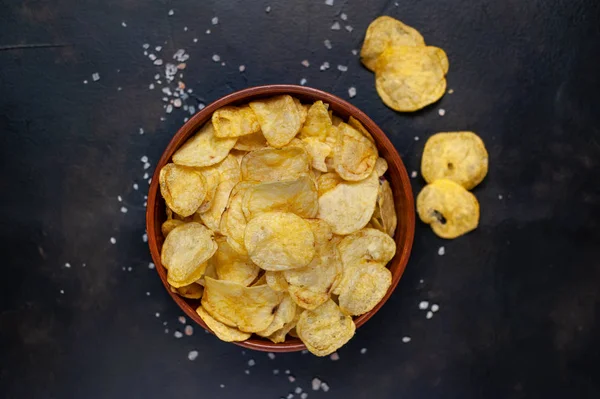
[[[424,223],[442,238],[456,238],[479,224],[479,202],[463,186],[440,179],[417,196],[417,212]]]

